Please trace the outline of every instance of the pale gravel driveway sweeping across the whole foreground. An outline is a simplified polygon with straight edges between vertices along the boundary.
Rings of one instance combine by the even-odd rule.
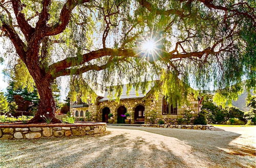
[[[256,127],[108,126],[104,135],[0,141],[0,167],[255,167]]]

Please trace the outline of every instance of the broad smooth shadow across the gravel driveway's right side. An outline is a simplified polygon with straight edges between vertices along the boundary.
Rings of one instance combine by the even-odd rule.
[[[214,161],[217,165],[222,165],[223,160],[227,162],[233,160],[233,162],[230,161],[232,166],[245,166],[246,163],[239,163],[241,158],[245,158],[252,161],[251,164],[246,166],[255,166],[256,150],[253,146],[253,142],[250,145],[243,144],[242,142],[236,143],[238,138],[246,138],[241,136],[240,133],[224,131],[223,129],[218,129],[218,131],[149,127],[127,127],[127,129],[143,130],[150,133],[177,138],[182,143],[193,147],[192,150],[195,151],[194,153],[199,154],[202,159]],[[161,129],[161,131],[159,131],[159,129]]]

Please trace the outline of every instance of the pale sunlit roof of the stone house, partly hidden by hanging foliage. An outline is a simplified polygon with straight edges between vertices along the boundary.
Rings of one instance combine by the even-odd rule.
[[[120,100],[122,99],[137,99],[137,98],[143,98],[150,90],[154,87],[153,83],[152,85],[149,85],[148,88],[146,89],[145,93],[143,94],[142,91],[139,89],[136,92],[136,89],[134,87],[131,88],[129,94],[126,94],[127,92],[127,85],[123,85],[123,91],[120,95]],[[108,101],[112,100],[115,98],[115,91],[112,92],[112,94],[109,92],[110,88],[107,88],[104,97],[99,99],[99,101]],[[111,94],[111,95],[110,95]],[[111,97],[112,96],[112,97]]]

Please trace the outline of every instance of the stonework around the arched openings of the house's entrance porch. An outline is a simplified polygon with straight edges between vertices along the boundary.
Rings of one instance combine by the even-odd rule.
[[[138,105],[145,106],[144,101],[142,101],[142,99],[124,99],[124,100],[120,100],[120,102],[116,102],[116,101],[99,102],[99,108],[98,108],[99,122],[102,122],[102,109],[104,107],[109,107],[110,113],[114,115],[114,120],[115,120],[114,123],[117,123],[117,109],[120,106],[124,106],[127,110],[127,113],[131,115],[131,124],[134,124],[134,111]]]

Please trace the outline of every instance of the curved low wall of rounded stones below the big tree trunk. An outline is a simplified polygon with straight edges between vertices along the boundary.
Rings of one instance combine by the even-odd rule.
[[[0,139],[35,139],[41,137],[82,136],[103,133],[106,125],[74,127],[7,127],[0,128]]]

